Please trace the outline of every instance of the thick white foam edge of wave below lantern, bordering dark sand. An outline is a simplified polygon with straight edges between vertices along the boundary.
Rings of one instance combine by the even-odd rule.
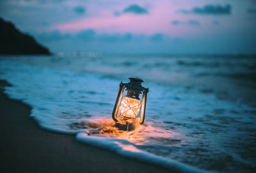
[[[136,145],[131,142],[123,139],[115,139],[109,137],[95,137],[87,135],[86,133],[77,133],[76,139],[79,142],[83,142],[84,144],[88,144],[93,147],[100,147],[103,149],[108,149],[109,151],[113,151],[116,154],[121,156],[132,158],[135,160],[140,160],[146,163],[152,163],[157,166],[165,167],[167,169],[176,171],[176,172],[189,172],[189,173],[213,173],[213,171],[202,170],[190,165],[186,165],[185,163],[180,163],[175,160],[166,159],[161,156],[156,156],[154,154],[148,153],[146,151],[141,151],[136,147]],[[122,147],[123,146],[123,147]],[[125,150],[124,147],[132,147],[135,149],[134,151]],[[135,147],[135,148],[134,148]]]

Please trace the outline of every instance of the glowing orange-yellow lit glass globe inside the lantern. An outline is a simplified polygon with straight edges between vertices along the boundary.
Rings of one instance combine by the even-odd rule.
[[[140,100],[124,97],[120,105],[120,116],[136,118],[140,112]]]

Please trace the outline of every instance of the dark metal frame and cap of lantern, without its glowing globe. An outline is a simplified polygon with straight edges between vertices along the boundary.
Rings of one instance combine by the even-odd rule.
[[[127,97],[135,98],[135,99],[140,99],[139,95],[142,92],[143,97],[141,100],[141,107],[140,107],[140,124],[143,124],[144,120],[145,120],[145,110],[146,110],[146,103],[147,103],[148,88],[141,86],[141,82],[143,82],[143,80],[138,77],[136,77],[136,78],[130,77],[129,79],[130,79],[129,83],[121,82],[119,85],[118,95],[116,97],[116,102],[115,102],[115,107],[113,109],[112,118],[116,122],[124,120],[124,119],[120,119],[120,117],[119,117],[119,108],[120,108],[120,103],[123,98],[124,89],[125,89],[125,91],[127,91],[127,95],[126,95]],[[129,119],[129,118],[126,117],[126,119]]]

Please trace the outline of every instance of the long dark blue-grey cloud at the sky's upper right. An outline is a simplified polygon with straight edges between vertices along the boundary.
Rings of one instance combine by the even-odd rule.
[[[231,5],[225,4],[221,6],[220,4],[206,4],[203,7],[195,7],[192,10],[180,10],[182,13],[189,14],[194,13],[198,15],[230,15]]]

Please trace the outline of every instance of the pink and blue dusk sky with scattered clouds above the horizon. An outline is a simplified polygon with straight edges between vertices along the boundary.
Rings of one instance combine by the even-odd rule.
[[[51,52],[256,54],[256,0],[1,0]]]

